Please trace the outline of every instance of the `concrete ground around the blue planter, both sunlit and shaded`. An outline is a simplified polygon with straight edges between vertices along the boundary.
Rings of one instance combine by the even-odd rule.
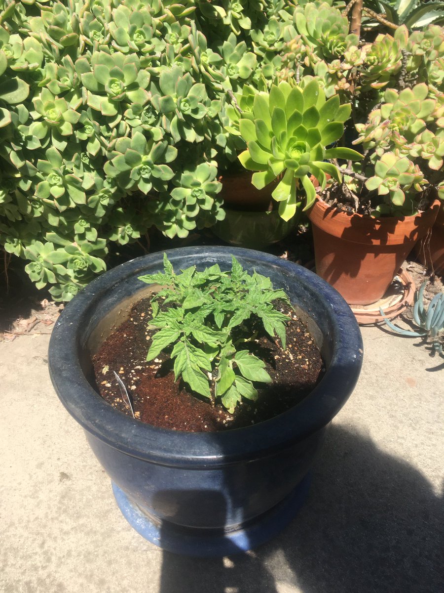
[[[2,593],[440,593],[444,366],[362,329],[359,383],[300,514],[244,556],[188,559],[143,540],[53,391],[49,336],[0,343]]]

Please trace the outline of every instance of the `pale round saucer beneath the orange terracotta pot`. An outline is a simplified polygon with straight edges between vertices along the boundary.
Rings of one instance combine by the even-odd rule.
[[[413,302],[415,285],[411,276],[405,270],[399,270],[384,297],[370,305],[350,305],[359,325],[371,325],[384,321],[384,318],[394,319]],[[384,315],[379,313],[379,307]]]

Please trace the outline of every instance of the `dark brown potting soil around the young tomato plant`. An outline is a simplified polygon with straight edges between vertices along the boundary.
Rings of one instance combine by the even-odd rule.
[[[207,398],[189,393],[182,380],[175,382],[173,361],[167,354],[162,352],[154,361],[146,361],[156,331],[147,329],[147,320],[152,317],[149,298],[133,305],[128,320],[111,333],[94,356],[96,388],[112,407],[131,416],[115,380],[113,371],[117,372],[133,400],[138,420],[177,431],[222,431],[277,416],[303,400],[324,372],[307,326],[287,305],[279,308],[289,317],[287,350],[284,352],[268,336],[252,342],[250,351],[265,360],[272,383],[257,383],[258,400],[244,400],[233,415],[223,406],[213,406]]]

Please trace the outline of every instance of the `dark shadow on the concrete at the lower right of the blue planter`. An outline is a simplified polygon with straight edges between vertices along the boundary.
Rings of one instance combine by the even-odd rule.
[[[163,553],[161,593],[439,593],[442,499],[420,471],[333,425],[297,517],[224,559]]]

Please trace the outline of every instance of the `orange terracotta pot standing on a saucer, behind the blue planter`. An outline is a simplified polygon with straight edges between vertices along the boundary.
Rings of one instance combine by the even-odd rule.
[[[374,219],[345,212],[317,199],[313,227],[316,273],[350,305],[369,305],[385,291],[417,240],[435,222],[439,200],[425,212],[403,219]]]

